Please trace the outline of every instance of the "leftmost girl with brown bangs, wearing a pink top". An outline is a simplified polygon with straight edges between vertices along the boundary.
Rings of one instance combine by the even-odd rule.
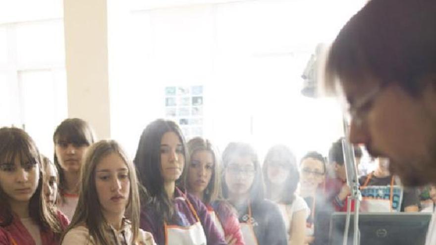
[[[68,225],[47,204],[41,162],[26,132],[0,128],[0,245],[57,245]]]

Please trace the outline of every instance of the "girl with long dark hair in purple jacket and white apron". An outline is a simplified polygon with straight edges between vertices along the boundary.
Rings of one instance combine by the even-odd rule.
[[[145,187],[141,228],[159,245],[224,245],[206,206],[183,188],[185,159],[177,124],[158,119],[145,128],[134,160]]]

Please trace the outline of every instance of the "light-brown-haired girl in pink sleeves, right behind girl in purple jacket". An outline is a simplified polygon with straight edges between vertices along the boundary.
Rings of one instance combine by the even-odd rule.
[[[196,137],[188,144],[186,188],[208,208],[215,225],[228,245],[244,245],[236,210],[220,192],[220,168],[210,141]]]

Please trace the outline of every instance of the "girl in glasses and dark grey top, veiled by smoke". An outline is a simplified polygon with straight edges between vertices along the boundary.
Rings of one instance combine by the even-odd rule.
[[[222,154],[222,194],[238,211],[247,245],[287,245],[276,204],[265,199],[262,171],[253,147],[230,143]]]

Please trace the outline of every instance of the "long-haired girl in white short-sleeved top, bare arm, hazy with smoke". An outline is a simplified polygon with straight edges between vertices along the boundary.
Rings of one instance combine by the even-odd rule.
[[[278,204],[283,218],[288,244],[303,245],[309,208],[295,194],[299,174],[294,154],[284,145],[268,150],[263,165],[267,198]]]

